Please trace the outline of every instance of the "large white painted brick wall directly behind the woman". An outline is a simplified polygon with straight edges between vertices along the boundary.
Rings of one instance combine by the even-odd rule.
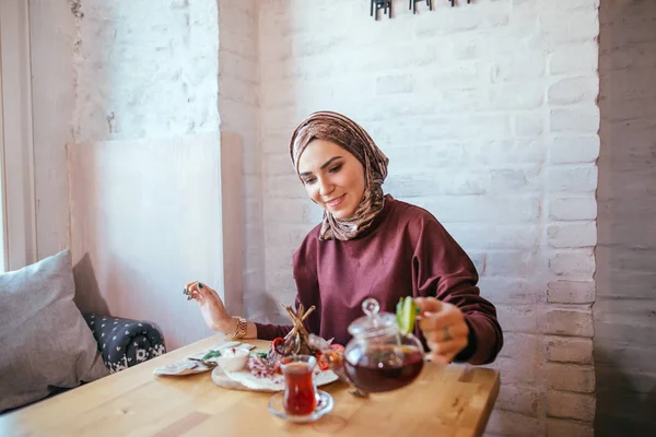
[[[375,22],[364,1],[261,2],[267,293],[293,298],[289,259],[320,217],[289,164],[292,129],[343,111],[390,157],[385,190],[444,223],[497,305],[488,432],[589,436],[599,1],[434,3],[412,15],[397,0]]]

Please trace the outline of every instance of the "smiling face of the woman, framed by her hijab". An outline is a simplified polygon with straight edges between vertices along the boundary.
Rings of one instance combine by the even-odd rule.
[[[353,215],[364,196],[364,167],[330,141],[307,144],[298,158],[298,175],[307,196],[336,218]]]

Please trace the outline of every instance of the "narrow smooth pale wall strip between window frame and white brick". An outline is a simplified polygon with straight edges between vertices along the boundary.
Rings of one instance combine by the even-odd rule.
[[[25,2],[27,3],[27,2]],[[70,247],[66,145],[75,106],[69,2],[30,0],[37,258]]]

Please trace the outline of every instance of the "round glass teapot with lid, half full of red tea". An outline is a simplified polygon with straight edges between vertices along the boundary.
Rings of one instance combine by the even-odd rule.
[[[411,333],[401,334],[396,316],[378,312],[380,306],[376,299],[365,299],[362,309],[365,316],[349,324],[353,338],[344,351],[321,351],[330,369],[355,388],[352,392],[355,395],[408,386],[423,368],[421,342]]]

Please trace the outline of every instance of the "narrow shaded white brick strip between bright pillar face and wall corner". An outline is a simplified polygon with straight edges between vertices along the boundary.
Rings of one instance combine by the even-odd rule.
[[[219,2],[219,113],[221,129],[242,139],[244,177],[244,311],[266,319],[262,177],[259,152],[257,0]]]

